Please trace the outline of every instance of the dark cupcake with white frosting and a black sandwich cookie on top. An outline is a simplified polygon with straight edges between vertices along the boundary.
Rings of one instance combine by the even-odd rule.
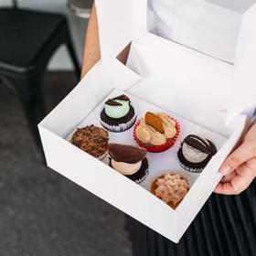
[[[181,143],[177,157],[185,170],[201,173],[216,153],[217,148],[211,141],[190,134]]]

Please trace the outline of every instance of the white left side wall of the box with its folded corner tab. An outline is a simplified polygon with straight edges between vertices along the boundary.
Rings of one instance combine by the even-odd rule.
[[[99,74],[101,75],[99,76]],[[135,84],[141,79],[141,76],[127,69],[117,59],[108,65],[103,65],[99,61],[80,80],[79,85],[38,125],[47,127],[53,133],[65,137],[110,91],[115,88],[125,91],[131,84]],[[67,125],[67,111],[71,114],[69,125]]]

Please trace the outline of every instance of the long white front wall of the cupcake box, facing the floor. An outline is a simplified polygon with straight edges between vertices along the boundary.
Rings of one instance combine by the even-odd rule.
[[[155,229],[156,232],[161,232],[161,234],[165,236],[167,239],[177,241],[175,225],[174,229],[169,229],[167,226],[165,226],[164,229],[158,229],[158,227],[161,226],[160,224],[162,223],[162,221],[165,221],[166,223],[175,223],[175,211],[172,208],[169,208],[167,205],[165,205],[164,202],[162,202],[157,197],[149,195],[148,193],[150,192],[144,189],[144,187],[136,185],[135,183],[133,183],[133,181],[129,180],[128,178],[122,176],[117,172],[112,172],[111,167],[105,165],[104,163],[95,159],[91,155],[82,152],[79,148],[76,148],[74,145],[69,144],[68,141],[59,137],[58,134],[52,133],[47,128],[42,127],[41,125],[38,125],[38,128],[40,136],[42,138],[42,144],[44,147],[44,151],[46,153],[47,165],[49,168],[56,170],[62,176],[69,178],[69,180],[78,184],[80,187],[89,190],[92,194],[96,195],[97,197],[101,197],[101,199],[110,203],[115,208],[119,208],[123,212],[132,216],[134,219],[143,222],[144,225],[148,226],[150,229]],[[54,147],[52,147],[52,144],[54,144]],[[69,152],[69,157],[73,157],[76,160],[78,160],[76,161],[76,163],[84,162],[86,163],[86,165],[84,166],[90,166],[91,163],[93,163],[93,166],[95,170],[97,170],[97,172],[89,172],[90,175],[86,175],[85,178],[85,176],[82,175],[81,171],[78,170],[80,167],[77,165],[76,171],[78,173],[77,175],[74,174],[74,167],[73,165],[70,167],[71,163],[69,162],[69,157],[67,159],[61,156],[61,161],[58,161],[58,157],[60,157],[58,150],[59,148],[61,148],[62,155],[67,155],[67,153]],[[101,171],[99,171],[100,169]],[[102,169],[104,169],[103,172]],[[108,172],[108,170],[111,170],[111,172]],[[114,187],[112,189],[101,187],[100,191],[99,189],[94,189],[93,187],[91,187],[91,185],[89,186],[88,184],[85,184],[87,183],[86,180],[88,180],[89,176],[95,179],[96,176],[99,176],[100,174],[102,179],[104,179],[104,177],[106,176],[109,176],[109,179],[111,178],[115,184],[119,185],[118,187],[122,187],[122,189],[119,190],[119,194],[123,195],[126,204],[123,204],[121,202],[120,198],[122,197],[113,196],[116,195],[116,191],[112,191],[112,189],[115,189]],[[123,192],[120,193],[120,191]],[[127,191],[129,191],[129,193],[127,193]],[[133,200],[135,198],[136,203],[132,202],[131,198],[133,198]],[[141,204],[140,199],[141,201],[144,201],[143,205]],[[162,213],[162,219],[159,219],[160,211]]]

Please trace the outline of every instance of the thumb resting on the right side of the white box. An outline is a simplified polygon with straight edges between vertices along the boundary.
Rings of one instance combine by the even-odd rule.
[[[221,165],[219,171],[224,176],[227,176],[255,155],[256,152],[254,144],[243,143],[237,150],[228,156],[226,161]]]

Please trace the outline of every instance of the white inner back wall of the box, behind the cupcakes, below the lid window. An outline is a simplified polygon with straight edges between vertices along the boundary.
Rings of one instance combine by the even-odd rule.
[[[166,110],[178,110],[176,114],[216,133],[229,135],[226,113],[219,110],[227,108],[231,65],[149,35],[133,42],[127,66],[144,76],[129,92]]]

